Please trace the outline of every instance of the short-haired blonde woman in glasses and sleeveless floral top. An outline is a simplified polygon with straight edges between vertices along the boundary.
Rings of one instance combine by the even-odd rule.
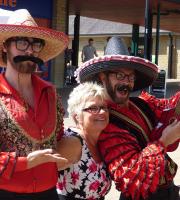
[[[104,89],[94,83],[84,83],[72,91],[68,112],[76,127],[65,131],[59,145],[61,156],[69,161],[60,171],[57,191],[64,199],[104,199],[111,180],[106,172],[97,140],[109,122]]]

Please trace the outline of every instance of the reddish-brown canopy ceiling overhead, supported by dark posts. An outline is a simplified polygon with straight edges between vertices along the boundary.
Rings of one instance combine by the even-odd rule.
[[[145,3],[145,0],[69,0],[69,14],[145,26]],[[160,29],[180,33],[180,0],[150,0],[153,28],[158,4]]]

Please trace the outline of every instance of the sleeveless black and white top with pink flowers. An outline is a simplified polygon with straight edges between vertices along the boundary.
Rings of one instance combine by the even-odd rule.
[[[71,129],[65,131],[65,137],[77,135]],[[80,136],[79,136],[80,137]],[[59,172],[58,194],[71,199],[99,199],[108,193],[111,179],[103,162],[96,163],[86,142],[82,140],[82,156],[79,162]]]

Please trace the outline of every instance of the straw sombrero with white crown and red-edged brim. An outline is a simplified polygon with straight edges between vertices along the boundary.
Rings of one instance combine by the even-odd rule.
[[[4,18],[1,16],[4,13]],[[8,13],[5,14],[5,13]],[[6,23],[5,19],[6,18]],[[2,20],[1,20],[2,19]],[[0,9],[0,66],[6,64],[2,60],[2,45],[11,37],[34,37],[45,40],[45,46],[39,54],[44,62],[56,57],[68,45],[68,37],[63,33],[45,27],[39,27],[28,10],[6,11]]]

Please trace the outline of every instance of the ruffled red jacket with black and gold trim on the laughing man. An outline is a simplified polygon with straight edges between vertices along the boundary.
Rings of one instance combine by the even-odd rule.
[[[132,101],[129,101],[128,107],[109,102],[110,124],[98,140],[100,153],[116,188],[132,199],[146,198],[149,192],[171,182],[177,171],[177,165],[167,156],[166,149],[158,140],[161,133],[156,125],[163,110],[177,104],[180,93],[169,100],[155,99],[147,93],[140,97],[153,111],[153,123],[147,112]],[[156,133],[157,139],[152,139]]]

